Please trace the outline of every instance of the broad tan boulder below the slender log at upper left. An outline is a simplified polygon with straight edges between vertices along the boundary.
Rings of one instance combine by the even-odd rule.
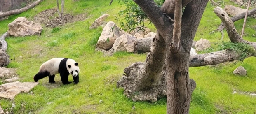
[[[28,35],[40,35],[43,28],[39,23],[33,23],[28,21],[26,17],[18,17],[12,23],[8,24],[9,35],[28,36]]]

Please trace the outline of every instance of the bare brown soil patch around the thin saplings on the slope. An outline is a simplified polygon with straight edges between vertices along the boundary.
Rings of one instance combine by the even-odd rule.
[[[56,27],[64,25],[65,23],[72,23],[75,21],[83,21],[87,19],[87,14],[64,14],[62,19],[59,18],[56,9],[47,9],[34,16],[34,22],[45,25],[46,27]]]

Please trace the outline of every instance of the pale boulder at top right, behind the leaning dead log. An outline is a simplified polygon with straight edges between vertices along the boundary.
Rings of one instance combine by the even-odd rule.
[[[224,10],[230,16],[236,16],[238,14],[246,12],[246,9],[242,9],[240,7],[235,7],[233,5],[225,5]]]

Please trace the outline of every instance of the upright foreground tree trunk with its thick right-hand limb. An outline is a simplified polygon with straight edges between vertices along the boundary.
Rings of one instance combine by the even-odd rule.
[[[193,92],[188,73],[189,56],[207,2],[208,0],[193,0],[186,5],[182,15],[181,49],[177,54],[172,54],[167,49],[167,114],[189,113]]]

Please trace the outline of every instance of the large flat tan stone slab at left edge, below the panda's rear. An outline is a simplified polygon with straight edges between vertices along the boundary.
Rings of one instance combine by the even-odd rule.
[[[19,82],[5,83],[0,85],[0,98],[7,98],[13,100],[16,95],[21,92],[28,93],[39,82]]]

